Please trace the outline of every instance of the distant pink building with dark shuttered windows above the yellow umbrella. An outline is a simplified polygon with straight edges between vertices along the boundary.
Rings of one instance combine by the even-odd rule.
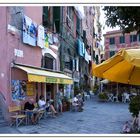
[[[140,35],[136,32],[122,34],[120,30],[110,31],[104,34],[105,59],[110,58],[120,49],[139,48]]]

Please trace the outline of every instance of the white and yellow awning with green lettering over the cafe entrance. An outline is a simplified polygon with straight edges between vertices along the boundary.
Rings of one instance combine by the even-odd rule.
[[[28,66],[20,66],[17,64],[14,65],[14,67],[27,72],[29,82],[73,84],[71,77],[59,72],[52,72]]]

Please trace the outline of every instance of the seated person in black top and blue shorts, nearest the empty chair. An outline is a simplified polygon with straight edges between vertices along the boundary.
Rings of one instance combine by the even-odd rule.
[[[29,99],[24,105],[24,110],[26,111],[27,116],[29,118],[31,118],[32,123],[35,124],[37,122],[38,113],[37,113],[37,111],[34,112],[35,106],[34,106],[33,102],[34,102],[33,99]]]

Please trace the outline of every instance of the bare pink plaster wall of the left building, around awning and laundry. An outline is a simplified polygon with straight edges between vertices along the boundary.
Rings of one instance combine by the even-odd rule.
[[[0,82],[2,83],[0,85],[0,92],[2,97],[1,108],[3,108],[3,115],[6,117],[8,117],[6,115],[8,112],[8,106],[17,104],[17,102],[12,101],[11,80],[27,80],[27,74],[25,74],[25,72],[21,70],[12,69],[12,63],[15,62],[36,67],[41,66],[41,48],[24,44],[21,37],[22,31],[14,28],[14,26],[12,26],[11,24],[15,24],[14,21],[12,21],[13,16],[22,14],[16,13],[22,12],[20,10],[23,10],[24,14],[34,19],[37,24],[40,24],[42,22],[42,8],[24,7],[23,9],[21,8],[18,10],[19,11],[14,11],[14,8],[12,9],[12,7],[0,7],[0,33],[2,35],[0,39]],[[35,11],[38,12],[36,13]],[[36,13],[36,15],[34,15],[34,13]],[[17,53],[21,53],[21,55],[16,55],[16,51]]]

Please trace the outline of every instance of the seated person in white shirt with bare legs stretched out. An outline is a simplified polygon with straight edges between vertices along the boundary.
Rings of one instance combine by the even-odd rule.
[[[38,106],[40,109],[46,109],[46,111],[49,111],[49,109],[51,109],[53,115],[55,116],[55,114],[57,114],[54,106],[52,105],[51,101],[49,99],[47,99],[47,103],[44,100],[44,96],[40,96],[40,99],[38,101]]]

